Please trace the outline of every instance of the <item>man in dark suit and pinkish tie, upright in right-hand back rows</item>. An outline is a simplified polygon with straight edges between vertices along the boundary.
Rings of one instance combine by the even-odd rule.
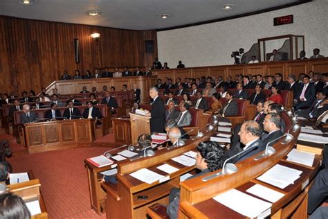
[[[304,75],[303,83],[294,98],[294,108],[298,110],[311,107],[314,96],[316,96],[316,88],[313,83],[310,83],[310,77]]]

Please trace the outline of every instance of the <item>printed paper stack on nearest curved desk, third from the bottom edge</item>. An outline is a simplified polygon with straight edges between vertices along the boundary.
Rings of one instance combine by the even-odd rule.
[[[302,171],[277,164],[266,173],[257,177],[262,182],[284,189],[300,178]]]

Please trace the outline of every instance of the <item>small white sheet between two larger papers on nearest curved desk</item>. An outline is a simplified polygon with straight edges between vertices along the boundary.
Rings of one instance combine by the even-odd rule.
[[[277,202],[277,200],[280,200],[280,198],[284,197],[284,193],[280,193],[260,184],[255,184],[254,186],[247,189],[246,192],[256,195],[259,198],[263,198],[264,200],[268,200],[272,203]]]

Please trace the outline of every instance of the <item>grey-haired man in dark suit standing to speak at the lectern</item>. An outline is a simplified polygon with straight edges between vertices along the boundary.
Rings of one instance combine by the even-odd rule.
[[[165,130],[165,105],[163,100],[158,96],[156,87],[149,89],[149,96],[153,99],[152,109],[148,116],[150,119],[150,132],[164,132]]]

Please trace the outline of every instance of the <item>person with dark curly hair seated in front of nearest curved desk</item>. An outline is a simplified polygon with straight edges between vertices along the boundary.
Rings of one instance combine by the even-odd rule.
[[[205,141],[199,143],[197,146],[196,168],[201,170],[201,172],[189,177],[188,179],[219,170],[224,165],[225,160],[225,152],[216,142]],[[169,195],[169,204],[166,210],[167,215],[172,219],[178,217],[179,202],[180,189],[172,189]]]

